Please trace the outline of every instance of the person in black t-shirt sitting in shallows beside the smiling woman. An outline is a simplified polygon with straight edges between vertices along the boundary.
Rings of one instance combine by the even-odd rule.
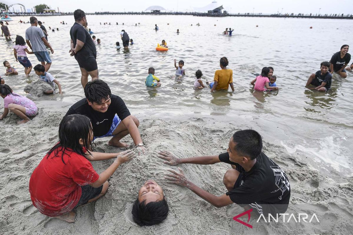
[[[310,75],[306,87],[310,90],[328,91],[331,88],[332,75],[329,72],[330,63],[324,61],[320,64],[320,70]],[[315,86],[312,87],[311,85]]]

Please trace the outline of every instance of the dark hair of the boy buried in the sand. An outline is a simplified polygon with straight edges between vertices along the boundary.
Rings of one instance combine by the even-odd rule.
[[[138,199],[132,206],[132,218],[140,226],[151,226],[159,224],[167,218],[169,212],[168,203],[165,198],[159,202],[145,204],[145,200],[139,203]]]

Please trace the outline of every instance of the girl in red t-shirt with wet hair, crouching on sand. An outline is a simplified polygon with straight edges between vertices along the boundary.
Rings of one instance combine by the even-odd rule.
[[[93,130],[84,115],[69,115],[59,125],[59,142],[34,169],[29,180],[33,205],[44,215],[75,222],[73,209],[94,202],[108,190],[108,179],[118,167],[134,157],[132,150],[98,153],[91,149]],[[115,158],[101,174],[90,161]]]

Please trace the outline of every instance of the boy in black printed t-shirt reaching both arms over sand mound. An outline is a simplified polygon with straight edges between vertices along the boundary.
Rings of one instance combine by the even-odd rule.
[[[225,162],[231,164],[223,177],[228,192],[215,196],[202,190],[187,180],[183,171],[169,170],[170,183],[189,188],[198,196],[220,208],[237,203],[245,210],[252,209],[253,214],[285,213],[291,196],[291,187],[286,173],[261,151],[262,138],[254,130],[241,130],[234,133],[229,141],[226,153],[214,156],[177,158],[168,151],[161,151],[157,156],[166,160],[164,163],[175,166],[181,163],[214,164]],[[279,215],[280,216],[280,215]]]

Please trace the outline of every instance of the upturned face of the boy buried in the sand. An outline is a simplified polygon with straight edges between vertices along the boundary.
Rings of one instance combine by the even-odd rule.
[[[138,201],[145,204],[162,201],[164,198],[162,188],[154,180],[147,180],[138,191]]]

